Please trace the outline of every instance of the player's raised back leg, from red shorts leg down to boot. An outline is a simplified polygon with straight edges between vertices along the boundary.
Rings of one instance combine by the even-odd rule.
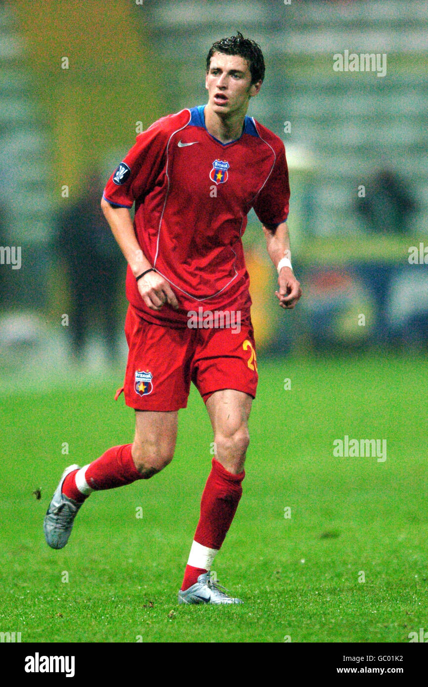
[[[67,468],[45,517],[49,546],[67,543],[74,517],[92,491],[111,489],[159,472],[174,453],[177,412],[185,407],[190,373],[185,365],[190,330],[176,330],[144,321],[129,306],[125,333],[128,363],[124,380],[126,405],[134,408],[133,444],[115,446],[79,468]]]

